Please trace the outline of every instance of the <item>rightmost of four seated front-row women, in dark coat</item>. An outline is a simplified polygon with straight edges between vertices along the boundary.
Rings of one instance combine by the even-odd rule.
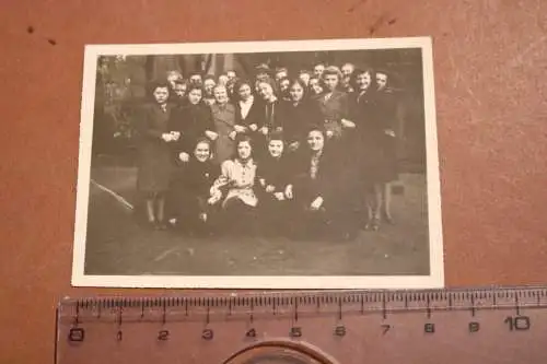
[[[358,224],[351,192],[356,179],[351,168],[342,168],[337,154],[326,146],[326,131],[312,127],[307,132],[307,148],[301,149],[294,165],[293,197],[301,216],[293,226],[299,238],[331,237],[352,239]]]

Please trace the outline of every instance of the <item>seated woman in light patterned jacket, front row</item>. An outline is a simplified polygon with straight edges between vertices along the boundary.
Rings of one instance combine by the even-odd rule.
[[[209,203],[218,206],[221,227],[229,232],[249,232],[254,227],[255,208],[258,199],[255,195],[256,163],[253,160],[251,138],[237,137],[236,156],[221,165],[221,174],[213,183]],[[220,204],[220,206],[219,206]]]

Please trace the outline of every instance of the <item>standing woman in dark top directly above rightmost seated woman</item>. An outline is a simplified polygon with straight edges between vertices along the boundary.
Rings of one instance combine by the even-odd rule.
[[[313,125],[321,125],[323,117],[316,103],[306,97],[306,86],[301,79],[289,84],[290,101],[282,102],[279,115],[289,152],[296,151],[306,139],[306,131]]]

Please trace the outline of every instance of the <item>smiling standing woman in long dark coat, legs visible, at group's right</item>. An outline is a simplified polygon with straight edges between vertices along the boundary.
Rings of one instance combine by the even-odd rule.
[[[353,154],[360,156],[361,186],[358,191],[366,206],[365,230],[377,231],[381,224],[382,189],[386,181],[383,153],[384,125],[373,84],[372,69],[358,69],[353,73],[356,92],[352,95],[352,119],[357,128],[352,140]]]

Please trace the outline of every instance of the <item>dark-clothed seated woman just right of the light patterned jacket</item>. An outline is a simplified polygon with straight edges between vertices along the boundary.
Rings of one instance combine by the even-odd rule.
[[[259,208],[261,232],[267,235],[286,233],[291,220],[292,196],[291,165],[284,151],[281,133],[271,133],[268,139],[268,155],[258,164],[256,177],[259,183]]]

